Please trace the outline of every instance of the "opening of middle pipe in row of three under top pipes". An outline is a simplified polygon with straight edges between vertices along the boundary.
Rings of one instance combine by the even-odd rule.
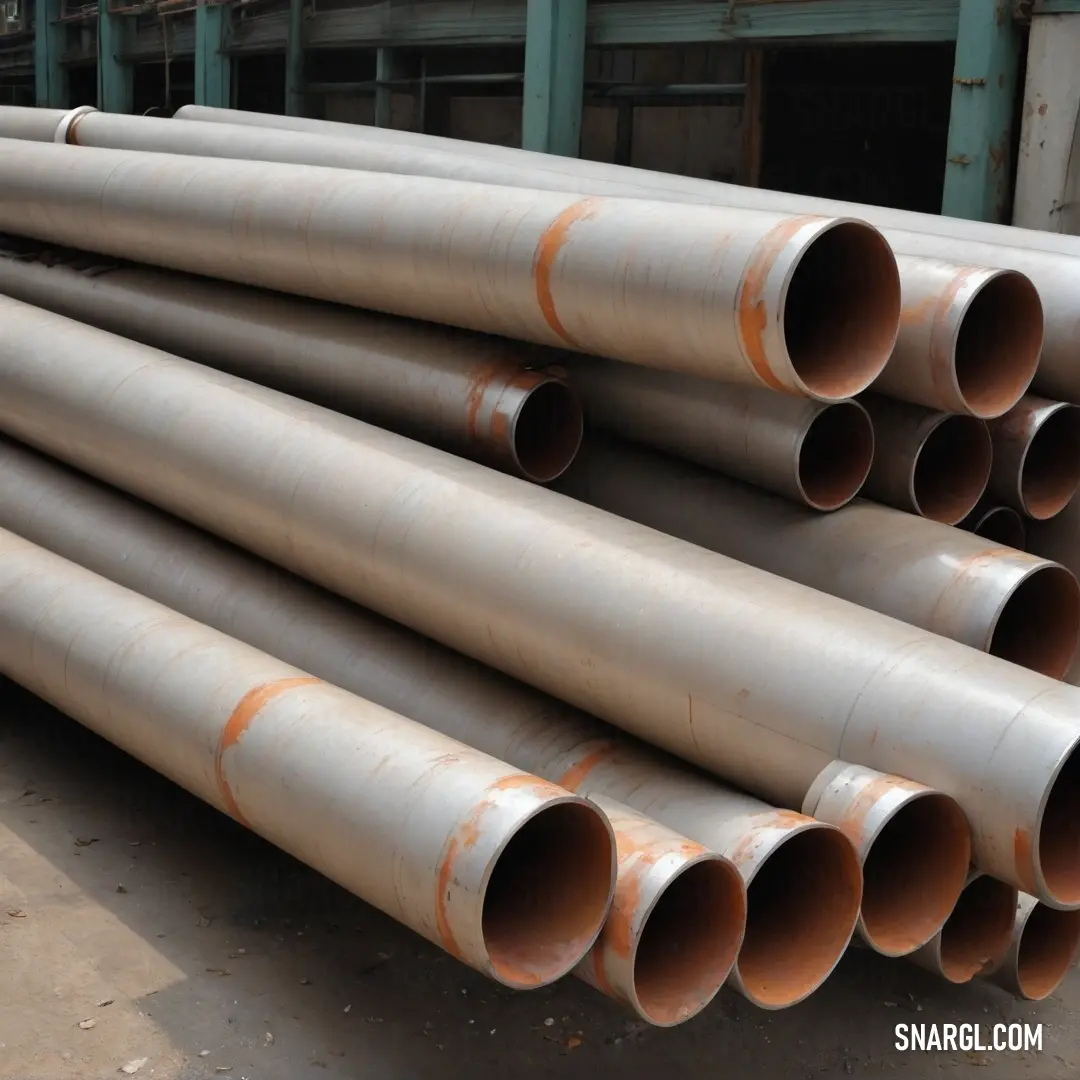
[[[962,522],[986,489],[993,456],[984,421],[942,417],[915,458],[912,498],[919,514],[943,525]]]

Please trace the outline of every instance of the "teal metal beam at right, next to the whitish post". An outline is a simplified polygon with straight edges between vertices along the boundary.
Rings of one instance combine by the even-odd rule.
[[[1021,31],[1012,0],[960,0],[942,213],[1007,221]]]

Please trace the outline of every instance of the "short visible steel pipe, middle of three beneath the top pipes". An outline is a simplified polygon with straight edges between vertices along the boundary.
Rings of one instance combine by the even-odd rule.
[[[874,463],[863,494],[943,525],[962,522],[986,490],[994,447],[986,422],[866,394]]]

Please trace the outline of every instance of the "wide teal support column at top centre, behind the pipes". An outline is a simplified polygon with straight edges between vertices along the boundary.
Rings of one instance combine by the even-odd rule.
[[[528,0],[522,146],[578,156],[585,68],[585,0]]]

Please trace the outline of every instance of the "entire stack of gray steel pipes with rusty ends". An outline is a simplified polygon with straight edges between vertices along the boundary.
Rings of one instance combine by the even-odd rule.
[[[854,934],[1052,991],[1080,935],[1080,697],[1054,681],[1080,585],[1015,528],[995,538],[1053,525],[1080,483],[1054,359],[1072,301],[1052,291],[1044,324],[1027,276],[1045,302],[1074,256],[423,136],[45,111],[0,109],[0,228],[23,238],[0,251],[0,431],[97,480],[0,444],[0,529],[24,538],[0,534],[4,672],[508,985],[573,969],[669,1026],[728,980],[801,1000]],[[582,406],[608,435],[575,461]],[[79,653],[119,665],[83,702],[19,643],[62,651],[94,603],[136,629]],[[161,702],[139,681],[174,631],[295,665],[200,743],[213,783],[179,676]],[[259,799],[294,751],[248,732],[279,684],[287,704],[320,679],[473,747],[507,791],[598,808],[603,837],[575,825],[595,873],[566,886],[542,828],[499,840],[518,877],[484,864],[460,933],[447,867],[488,850],[473,819],[441,862],[416,849],[433,908],[342,876],[369,806],[327,824],[301,798],[288,832]],[[176,740],[149,748],[111,696]],[[279,723],[307,768],[337,751],[314,723],[330,705],[299,708]],[[225,771],[241,735],[279,755],[239,774],[251,811]],[[391,742],[373,771],[407,786]],[[462,806],[502,806],[454,778]]]

